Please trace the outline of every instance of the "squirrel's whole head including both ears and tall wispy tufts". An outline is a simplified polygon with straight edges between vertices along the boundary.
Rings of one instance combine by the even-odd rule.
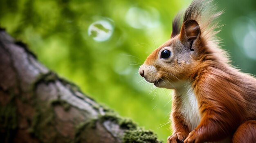
[[[220,31],[216,18],[222,11],[214,11],[211,1],[193,0],[184,15],[173,20],[171,39],[147,57],[139,74],[157,87],[173,89],[195,81],[211,66],[229,64],[216,38]]]

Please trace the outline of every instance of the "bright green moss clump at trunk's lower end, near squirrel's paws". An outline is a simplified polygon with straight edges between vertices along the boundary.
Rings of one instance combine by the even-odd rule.
[[[162,143],[157,140],[157,135],[152,131],[143,130],[127,130],[123,137],[124,143]]]

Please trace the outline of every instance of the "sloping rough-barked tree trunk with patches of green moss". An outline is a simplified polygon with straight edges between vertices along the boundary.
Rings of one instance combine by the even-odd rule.
[[[0,29],[0,142],[159,143],[40,64]]]

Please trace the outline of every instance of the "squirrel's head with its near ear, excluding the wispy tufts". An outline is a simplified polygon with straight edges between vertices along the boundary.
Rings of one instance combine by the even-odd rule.
[[[179,32],[177,32],[179,31]],[[171,39],[159,46],[139,68],[139,74],[157,87],[175,88],[188,78],[200,43],[200,26],[195,20],[183,22],[181,29],[173,29]]]

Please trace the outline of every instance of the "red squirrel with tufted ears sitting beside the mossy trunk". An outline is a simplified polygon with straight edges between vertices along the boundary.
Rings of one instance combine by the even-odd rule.
[[[168,143],[256,143],[256,79],[231,66],[216,39],[222,12],[213,11],[211,1],[193,0],[139,68],[146,81],[174,90]]]

